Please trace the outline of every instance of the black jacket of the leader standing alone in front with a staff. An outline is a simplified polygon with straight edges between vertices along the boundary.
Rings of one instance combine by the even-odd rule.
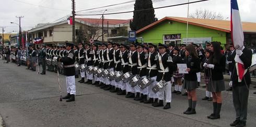
[[[59,61],[63,62],[64,75],[68,77],[75,75],[75,66],[65,67],[74,65],[76,61],[74,50],[69,50],[69,52],[67,52],[67,54],[63,58],[60,58]]]

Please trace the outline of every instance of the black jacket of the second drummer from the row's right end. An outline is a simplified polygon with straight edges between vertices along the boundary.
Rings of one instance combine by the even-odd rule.
[[[149,55],[148,55],[148,62],[150,61],[150,65],[151,65],[151,68],[156,66],[157,65],[157,62],[158,62],[158,58],[157,58],[157,52],[154,52],[150,55],[150,58],[149,58]],[[155,67],[156,69],[149,69],[149,66],[147,64],[147,77],[156,77],[157,73],[158,73],[158,70],[157,70],[157,67]],[[149,71],[150,70],[150,71]]]

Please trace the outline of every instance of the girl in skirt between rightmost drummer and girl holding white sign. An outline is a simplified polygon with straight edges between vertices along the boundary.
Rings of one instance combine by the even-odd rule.
[[[180,52],[180,49],[178,47],[173,48],[172,60],[173,60],[174,65],[176,66],[176,68],[177,68],[177,63],[183,63],[182,58],[179,56],[179,52]],[[182,78],[183,78],[183,74],[179,73],[178,70],[173,72],[175,90],[172,93],[177,94],[177,95],[181,94]]]

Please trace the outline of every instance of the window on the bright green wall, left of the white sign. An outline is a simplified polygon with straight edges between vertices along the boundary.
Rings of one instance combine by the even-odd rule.
[[[164,35],[164,44],[168,45],[170,43],[174,43],[176,45],[181,44],[181,34]]]

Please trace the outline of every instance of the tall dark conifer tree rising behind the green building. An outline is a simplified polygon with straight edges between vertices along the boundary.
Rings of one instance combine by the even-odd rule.
[[[131,30],[137,31],[158,20],[155,16],[154,9],[143,10],[149,8],[153,8],[152,0],[136,0],[134,4],[133,21],[130,21]]]

